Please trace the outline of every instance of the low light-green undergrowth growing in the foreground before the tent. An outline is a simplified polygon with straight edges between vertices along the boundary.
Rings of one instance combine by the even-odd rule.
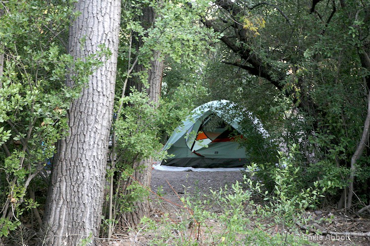
[[[140,233],[150,235],[149,245],[310,245],[296,223],[308,224],[310,217],[301,216],[314,208],[326,188],[313,187],[298,192],[291,187],[297,169],[282,158],[280,168],[271,173],[272,191],[254,178],[258,166],[249,166],[244,184],[236,182],[220,190],[211,190],[211,197],[181,198],[177,215],[164,214],[159,220],[144,217]],[[255,203],[253,197],[263,198]],[[210,204],[221,210],[211,212]]]

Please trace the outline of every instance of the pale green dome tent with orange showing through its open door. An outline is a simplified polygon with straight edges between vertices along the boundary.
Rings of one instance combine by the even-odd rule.
[[[194,109],[168,139],[163,150],[171,156],[161,165],[195,168],[243,167],[248,162],[245,149],[235,139],[242,138],[243,120],[237,105],[227,100],[211,101]],[[235,117],[236,115],[236,117]],[[263,137],[266,130],[252,114],[247,115]]]

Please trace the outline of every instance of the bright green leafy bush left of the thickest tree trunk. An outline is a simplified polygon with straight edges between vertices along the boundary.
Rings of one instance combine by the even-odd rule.
[[[104,47],[84,60],[66,54],[63,35],[76,16],[73,1],[7,1],[1,10],[0,238],[20,225],[20,215],[37,207],[30,184],[47,169],[57,140],[67,133],[70,102],[110,56]],[[67,74],[73,87],[65,85]]]

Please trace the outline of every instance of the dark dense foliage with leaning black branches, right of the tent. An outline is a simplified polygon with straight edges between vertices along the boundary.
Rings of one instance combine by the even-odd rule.
[[[228,96],[278,142],[300,146],[301,184],[333,181],[336,199],[355,192],[367,204],[369,150],[360,148],[369,128],[369,3],[217,0],[204,23],[224,31],[219,61],[238,71],[217,77],[218,87],[210,80],[214,93],[235,88]]]

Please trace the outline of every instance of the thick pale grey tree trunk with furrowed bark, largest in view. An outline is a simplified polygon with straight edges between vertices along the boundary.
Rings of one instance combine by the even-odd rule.
[[[44,217],[46,245],[55,246],[98,236],[113,111],[120,0],[79,0],[75,11],[81,14],[70,28],[69,53],[83,59],[103,44],[112,55],[71,104],[69,135],[58,146]]]

